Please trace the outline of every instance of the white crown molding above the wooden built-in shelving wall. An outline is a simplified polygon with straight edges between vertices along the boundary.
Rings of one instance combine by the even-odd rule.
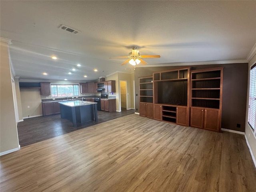
[[[247,60],[224,60],[224,61],[206,61],[206,62],[188,62],[188,63],[166,63],[152,65],[138,65],[136,67],[165,67],[165,66],[190,66],[190,65],[216,65],[216,64],[232,64],[232,63],[248,63]]]

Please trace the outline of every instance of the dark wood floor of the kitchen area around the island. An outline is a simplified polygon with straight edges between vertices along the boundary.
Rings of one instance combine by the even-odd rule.
[[[30,145],[130,114],[134,114],[134,110],[122,108],[122,112],[113,113],[98,111],[98,122],[90,122],[78,127],[73,127],[72,122],[60,118],[60,114],[24,119],[23,122],[18,123],[20,146]]]

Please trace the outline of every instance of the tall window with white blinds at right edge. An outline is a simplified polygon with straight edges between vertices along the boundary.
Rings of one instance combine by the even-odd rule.
[[[255,130],[255,126],[256,126],[256,64],[254,64],[250,70],[248,123]]]

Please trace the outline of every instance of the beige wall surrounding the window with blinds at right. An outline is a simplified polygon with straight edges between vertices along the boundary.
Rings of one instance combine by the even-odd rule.
[[[250,87],[250,68],[256,63],[256,55],[250,60],[248,64],[248,86],[247,86],[247,104],[246,104],[246,118],[245,118],[245,134],[252,149],[254,159],[256,159],[256,131],[253,132],[252,128],[248,124],[248,105],[249,105],[249,87]],[[250,138],[249,138],[250,134]]]

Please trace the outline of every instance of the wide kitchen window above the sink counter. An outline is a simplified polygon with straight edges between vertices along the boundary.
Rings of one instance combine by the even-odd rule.
[[[79,96],[78,85],[51,85],[52,97]]]

